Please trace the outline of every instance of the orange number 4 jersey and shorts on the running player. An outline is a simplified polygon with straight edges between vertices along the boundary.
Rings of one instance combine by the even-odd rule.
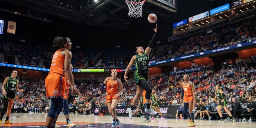
[[[106,102],[112,102],[113,99],[117,99],[119,101],[119,96],[116,97],[115,94],[118,94],[118,79],[112,80],[111,77],[109,77],[109,80],[107,82],[107,96],[106,96]]]

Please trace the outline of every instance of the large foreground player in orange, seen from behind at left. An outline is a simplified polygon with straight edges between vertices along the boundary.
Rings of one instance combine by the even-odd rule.
[[[56,37],[53,41],[53,47],[60,47],[60,49],[53,54],[50,72],[45,79],[46,96],[51,98],[51,108],[46,117],[45,128],[52,128],[56,114],[65,96],[67,79],[70,80],[71,94],[74,95],[75,92],[78,92],[70,69],[72,53],[69,50],[71,49],[71,44],[67,37]]]

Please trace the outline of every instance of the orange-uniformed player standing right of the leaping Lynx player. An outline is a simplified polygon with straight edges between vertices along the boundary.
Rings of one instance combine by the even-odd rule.
[[[195,127],[193,106],[195,105],[195,84],[189,81],[189,75],[183,76],[184,82],[181,83],[182,94],[180,98],[184,96],[184,112],[189,117],[188,127]],[[189,109],[189,112],[187,111]]]

